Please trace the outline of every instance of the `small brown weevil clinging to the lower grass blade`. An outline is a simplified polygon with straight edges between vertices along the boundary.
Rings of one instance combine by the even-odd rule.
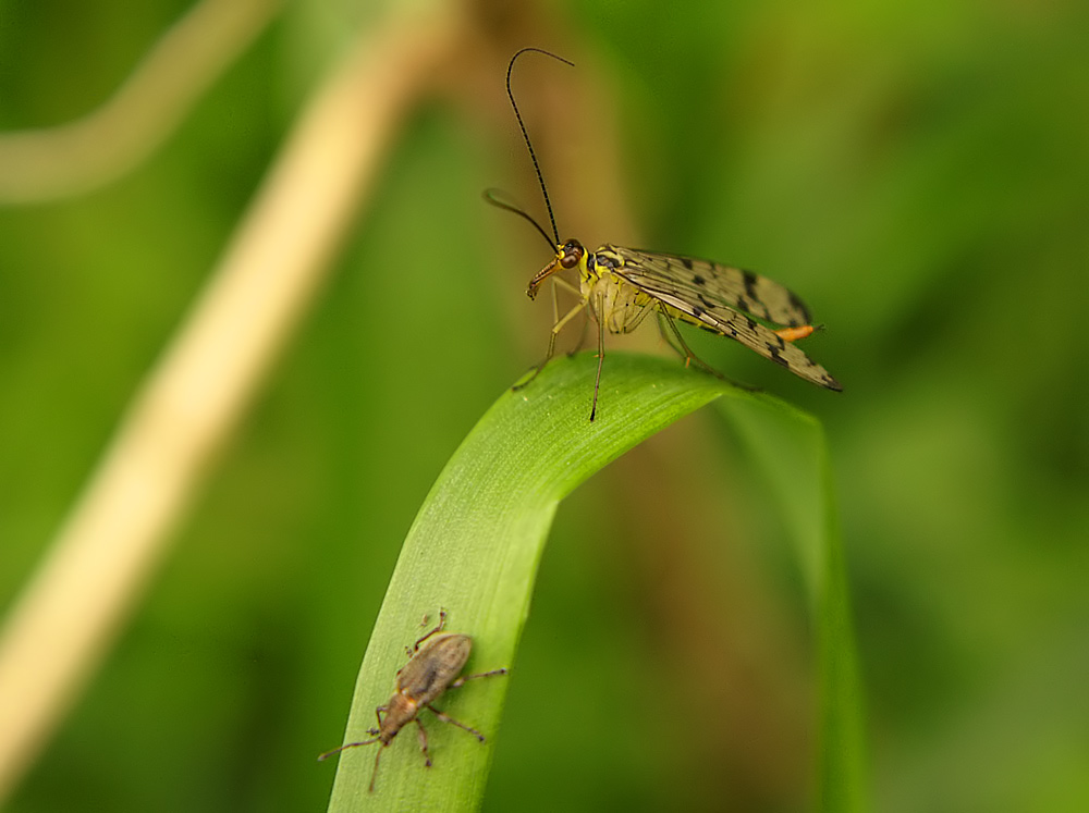
[[[332,751],[326,751],[318,760],[325,760],[335,753],[340,753],[346,748],[369,746],[374,742],[382,743],[381,748],[378,749],[378,753],[375,754],[375,771],[370,775],[370,787],[368,790],[369,792],[374,792],[375,777],[378,776],[378,761],[382,756],[382,751],[389,747],[402,728],[415,720],[419,728],[419,748],[424,752],[426,766],[431,767],[431,754],[427,750],[427,731],[424,730],[424,724],[417,716],[423,709],[429,709],[443,723],[452,723],[458,728],[464,728],[484,742],[482,734],[443,714],[431,705],[431,703],[438,700],[446,689],[456,689],[466,680],[505,675],[506,669],[492,669],[479,675],[457,677],[457,674],[465,666],[465,662],[469,658],[469,652],[473,650],[473,639],[458,632],[438,635],[442,631],[445,623],[446,612],[440,611],[439,626],[416,641],[412,650],[408,650],[408,663],[397,672],[396,691],[393,692],[393,695],[386,705],[380,705],[375,710],[375,716],[378,718],[378,727],[367,730],[367,734],[371,735],[371,739],[363,740],[362,742],[348,742],[340,748],[334,748]],[[420,649],[420,644],[425,641],[427,641],[427,644]],[[382,716],[383,712],[386,713],[384,717]]]

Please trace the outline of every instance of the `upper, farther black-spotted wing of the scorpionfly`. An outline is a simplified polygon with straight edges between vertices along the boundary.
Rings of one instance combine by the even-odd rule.
[[[809,324],[809,309],[793,291],[767,276],[710,260],[672,254],[611,248],[624,258],[624,274],[637,284],[665,287],[706,307],[725,306],[758,319],[797,328]]]

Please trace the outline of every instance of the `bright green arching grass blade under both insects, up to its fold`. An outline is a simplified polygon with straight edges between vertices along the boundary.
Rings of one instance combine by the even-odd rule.
[[[433,619],[444,608],[449,630],[473,636],[467,673],[514,665],[556,506],[608,463],[720,396],[755,414],[813,422],[769,396],[675,361],[610,354],[591,423],[596,364],[591,354],[559,358],[525,390],[504,393],[446,464],[402,549],[359,672],[345,741],[366,739],[375,706],[389,698],[405,663],[405,645],[424,631],[425,614]],[[425,713],[435,766],[424,769],[415,732],[405,730],[384,751],[376,791],[368,793],[378,746],[348,750],[340,757],[329,810],[476,810],[510,679],[473,681],[438,704],[488,736],[486,746]]]

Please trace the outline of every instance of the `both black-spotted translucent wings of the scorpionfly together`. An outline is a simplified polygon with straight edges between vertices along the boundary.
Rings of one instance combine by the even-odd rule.
[[[614,273],[665,305],[669,312],[736,338],[764,358],[818,386],[843,387],[796,345],[741,309],[776,324],[809,323],[806,306],[787,288],[748,271],[674,255],[609,247],[622,260]]]

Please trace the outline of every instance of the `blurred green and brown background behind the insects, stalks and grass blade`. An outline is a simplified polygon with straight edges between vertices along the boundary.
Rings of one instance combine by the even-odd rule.
[[[0,209],[4,611],[350,37],[346,5],[290,5],[132,174]],[[0,128],[85,114],[187,8],[0,2]],[[623,188],[587,176],[575,200],[558,184],[561,236],[565,211],[635,212],[647,247],[757,269],[828,325],[806,349],[842,396],[695,341],[828,428],[874,808],[1089,810],[1089,7],[474,13],[507,54],[589,56],[575,70],[610,96],[614,144],[595,144],[595,109],[566,125],[573,149],[619,162]],[[11,810],[325,805],[334,768],[315,755],[341,741],[415,510],[544,346],[549,308],[523,292],[546,249],[479,200],[503,186],[540,209],[502,79],[500,66],[476,100],[489,115],[456,87],[413,114],[331,282]],[[533,96],[519,102],[531,119]],[[811,640],[783,537],[710,412],[568,500],[486,809],[806,806]]]

